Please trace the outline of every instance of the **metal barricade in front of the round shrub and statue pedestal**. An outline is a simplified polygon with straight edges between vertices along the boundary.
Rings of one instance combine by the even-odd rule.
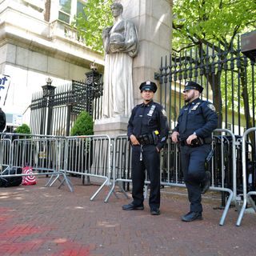
[[[86,135],[66,138],[66,166],[63,169],[69,174],[97,179],[102,185],[90,200],[98,195],[104,186],[111,184],[111,141],[108,135]]]

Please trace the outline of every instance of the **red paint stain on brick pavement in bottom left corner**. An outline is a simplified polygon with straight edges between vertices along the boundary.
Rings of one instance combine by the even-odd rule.
[[[14,216],[10,215],[13,210],[0,208],[0,255],[19,255],[38,251],[42,246],[54,241],[58,248],[54,248],[54,254],[51,256],[90,256],[90,246],[83,246],[71,242],[66,238],[47,238],[44,235],[41,238],[30,238],[30,235],[41,234],[47,230],[58,229],[58,226],[38,226],[37,224],[13,222]],[[56,249],[58,251],[56,251]]]

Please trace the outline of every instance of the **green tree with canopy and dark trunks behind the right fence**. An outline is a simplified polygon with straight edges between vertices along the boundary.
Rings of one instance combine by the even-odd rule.
[[[256,24],[254,0],[174,0],[173,13],[173,52],[196,47],[199,58],[200,54],[206,54],[206,45],[216,52],[222,52],[224,46],[228,49],[233,47],[235,58],[239,54],[235,49],[236,35],[254,30]],[[242,66],[241,71],[244,70]],[[221,72],[218,70],[210,74],[209,82],[218,81]],[[242,98],[247,122],[252,126],[245,78],[246,75],[242,74]],[[215,106],[222,106],[220,85],[210,86],[214,92]]]

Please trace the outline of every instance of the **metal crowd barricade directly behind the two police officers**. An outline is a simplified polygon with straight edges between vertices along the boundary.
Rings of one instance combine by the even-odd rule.
[[[230,157],[232,158],[232,174],[233,174],[233,187],[227,188],[225,186],[225,166],[222,164],[222,159],[225,158],[224,152],[222,150],[222,154],[220,155],[220,166],[218,167],[218,171],[220,171],[219,177],[220,182],[218,182],[218,186],[216,185],[216,181],[214,180],[214,164],[213,160],[210,162],[210,171],[211,175],[211,186],[210,190],[216,191],[224,191],[229,194],[228,200],[226,202],[225,209],[222,214],[222,218],[220,219],[219,225],[223,225],[225,222],[226,214],[230,208],[230,203],[235,201],[235,193],[236,191],[236,162],[235,162],[235,138],[234,134],[231,133],[230,130],[226,129],[217,129],[214,130],[214,133],[221,133],[220,137],[222,138],[222,133],[230,134],[232,138],[232,150]],[[221,139],[221,142],[223,140]],[[214,158],[214,157],[213,157]],[[106,202],[110,198],[110,194],[114,192],[115,186],[118,186],[120,190],[126,195],[126,191],[124,190],[124,186],[126,183],[131,182],[131,146],[130,142],[128,142],[126,135],[119,135],[115,138],[114,142],[114,162],[113,162],[113,176],[114,181],[106,198]],[[122,186],[121,186],[122,183]],[[150,181],[146,175],[146,184],[149,184]],[[161,151],[161,185],[162,186],[178,186],[178,187],[186,187],[183,181],[183,175],[181,170],[180,158],[179,158],[179,150],[178,145],[171,142],[171,139],[168,138],[165,148]]]

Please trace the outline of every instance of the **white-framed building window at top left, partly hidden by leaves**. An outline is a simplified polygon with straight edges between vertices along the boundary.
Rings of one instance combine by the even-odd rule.
[[[86,0],[59,0],[58,19],[70,24],[74,16],[83,13]]]

